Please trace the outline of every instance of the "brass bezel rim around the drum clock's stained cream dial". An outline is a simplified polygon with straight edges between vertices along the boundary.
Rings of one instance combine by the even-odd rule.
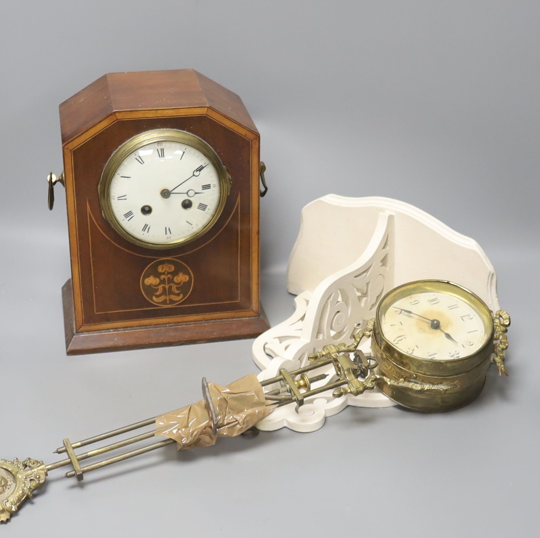
[[[478,312],[485,327],[485,337],[482,345],[474,353],[458,359],[422,359],[405,353],[384,337],[381,329],[381,320],[384,312],[386,312],[386,308],[402,297],[426,291],[438,291],[455,295],[467,302]],[[375,315],[374,338],[381,352],[389,360],[394,362],[395,365],[414,374],[447,376],[468,372],[480,364],[480,362],[483,362],[486,357],[490,357],[492,353],[493,331],[494,325],[491,311],[485,302],[475,293],[449,280],[416,280],[397,286],[381,299],[379,305],[377,305]]]

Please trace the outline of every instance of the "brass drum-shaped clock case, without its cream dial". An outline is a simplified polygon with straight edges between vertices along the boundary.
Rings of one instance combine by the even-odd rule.
[[[465,357],[430,360],[404,353],[389,341],[381,330],[385,309],[396,300],[420,291],[448,293],[470,305],[480,315],[485,329],[480,348]],[[506,312],[498,311],[493,315],[477,295],[449,281],[419,280],[399,286],[381,299],[373,324],[372,353],[378,361],[376,373],[392,380],[392,383],[377,386],[399,405],[415,411],[450,411],[465,406],[482,391],[494,353],[499,373],[507,373],[498,360],[507,346],[504,333],[509,325]]]

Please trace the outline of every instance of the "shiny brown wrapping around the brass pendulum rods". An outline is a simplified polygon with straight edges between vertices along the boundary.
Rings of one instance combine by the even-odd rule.
[[[218,432],[214,434],[204,400],[171,411],[156,419],[156,435],[174,439],[177,449],[214,445],[218,437],[234,437],[255,426],[275,409],[266,405],[264,391],[255,374],[226,387],[209,383]]]

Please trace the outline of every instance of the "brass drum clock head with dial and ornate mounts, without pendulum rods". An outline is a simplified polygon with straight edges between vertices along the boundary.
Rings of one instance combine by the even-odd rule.
[[[464,287],[418,280],[387,293],[354,344],[326,346],[312,358],[348,360],[360,340],[370,337],[373,372],[337,389],[335,396],[357,395],[377,386],[403,407],[450,411],[480,394],[491,362],[499,375],[508,375],[504,351],[509,326],[507,312],[492,313]]]

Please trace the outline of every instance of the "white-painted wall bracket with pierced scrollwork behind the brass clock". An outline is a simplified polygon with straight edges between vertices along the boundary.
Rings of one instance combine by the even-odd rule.
[[[295,311],[255,340],[253,359],[262,369],[259,380],[278,375],[280,368],[305,366],[309,353],[327,344],[348,344],[358,324],[374,317],[385,293],[420,279],[453,281],[475,292],[491,310],[500,308],[495,271],[480,245],[428,213],[380,197],[329,194],[308,204],[287,268],[287,289],[297,295]],[[360,347],[370,353],[369,341]],[[333,367],[313,375],[319,373],[331,376]],[[314,431],[326,416],[347,405],[394,403],[375,391],[339,399],[322,393],[298,413],[293,404],[277,409],[258,427]]]

